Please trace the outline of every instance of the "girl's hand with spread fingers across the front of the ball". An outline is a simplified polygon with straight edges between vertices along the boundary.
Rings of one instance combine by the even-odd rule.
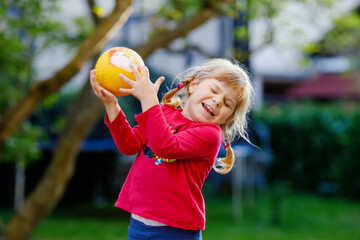
[[[130,65],[130,68],[135,75],[136,81],[132,81],[123,74],[120,74],[119,76],[121,77],[121,79],[127,84],[129,84],[131,89],[120,88],[119,91],[133,95],[141,103],[146,101],[152,102],[155,99],[157,102],[159,102],[157,98],[157,93],[159,91],[160,85],[165,80],[165,77],[161,76],[155,81],[155,83],[152,83],[150,80],[149,69],[146,66],[144,66],[143,77],[140,75],[134,65]]]

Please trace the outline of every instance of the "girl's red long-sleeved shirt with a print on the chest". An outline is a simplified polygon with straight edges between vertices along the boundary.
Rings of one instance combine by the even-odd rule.
[[[138,154],[115,207],[169,226],[203,230],[201,188],[214,164],[222,134],[219,126],[193,122],[181,111],[156,105],[136,115],[138,125],[133,128],[122,111],[112,122],[105,117],[118,149],[123,154]],[[156,157],[144,152],[147,147],[158,158],[176,161],[156,164]]]

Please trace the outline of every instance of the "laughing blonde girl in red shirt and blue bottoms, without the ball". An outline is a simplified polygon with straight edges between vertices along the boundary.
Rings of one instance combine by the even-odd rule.
[[[116,97],[99,86],[90,72],[95,94],[106,108],[105,124],[123,154],[137,154],[115,207],[131,213],[129,239],[201,239],[205,205],[201,193],[212,168],[225,174],[234,163],[230,142],[248,140],[247,113],[253,87],[238,64],[213,59],[190,68],[176,80],[177,87],[159,103],[155,83],[131,66],[136,82],[120,77],[141,103],[142,113],[131,127]],[[227,151],[216,159],[221,143]]]

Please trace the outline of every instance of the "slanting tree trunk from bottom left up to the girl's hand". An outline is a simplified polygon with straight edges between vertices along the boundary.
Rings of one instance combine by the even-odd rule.
[[[63,195],[73,176],[81,142],[103,109],[103,104],[91,93],[90,84],[87,83],[68,113],[67,125],[43,178],[8,224],[7,239],[28,239],[36,225],[53,210]]]

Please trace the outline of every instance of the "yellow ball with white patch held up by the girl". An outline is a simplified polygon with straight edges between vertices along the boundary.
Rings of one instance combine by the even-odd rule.
[[[139,54],[126,47],[111,48],[104,52],[96,62],[96,81],[115,96],[127,96],[129,94],[121,93],[119,88],[131,87],[119,77],[119,74],[122,73],[127,78],[136,81],[130,64],[133,64],[140,75],[143,76],[143,66],[145,64]]]

